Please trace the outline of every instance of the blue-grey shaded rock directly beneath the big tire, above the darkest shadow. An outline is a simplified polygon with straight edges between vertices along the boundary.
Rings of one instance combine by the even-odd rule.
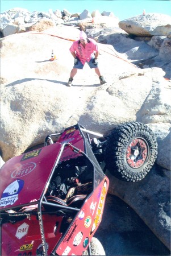
[[[109,172],[109,193],[125,201],[170,250],[170,172],[153,167],[145,179],[128,183]]]

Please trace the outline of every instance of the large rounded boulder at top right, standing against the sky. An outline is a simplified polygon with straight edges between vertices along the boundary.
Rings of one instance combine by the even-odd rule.
[[[171,31],[171,16],[148,13],[119,22],[119,27],[136,36],[167,36]]]

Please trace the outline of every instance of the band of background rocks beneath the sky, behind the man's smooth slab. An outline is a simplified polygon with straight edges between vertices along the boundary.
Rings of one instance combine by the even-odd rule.
[[[97,42],[114,46],[117,52],[126,55],[126,58],[140,68],[159,67],[166,72],[166,78],[171,78],[169,15],[144,13],[119,22],[112,12],[106,11],[99,13],[95,10],[90,14],[85,9],[81,14],[71,14],[66,9],[50,9],[48,13],[30,13],[26,9],[14,8],[1,15],[1,35],[44,31],[60,24],[80,27]]]

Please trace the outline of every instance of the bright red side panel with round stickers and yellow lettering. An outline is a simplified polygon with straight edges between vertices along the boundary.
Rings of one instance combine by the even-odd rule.
[[[85,201],[77,214],[69,232],[66,234],[56,253],[59,255],[81,255],[87,249],[94,233],[102,220],[109,179],[105,179],[95,189],[93,195]]]

